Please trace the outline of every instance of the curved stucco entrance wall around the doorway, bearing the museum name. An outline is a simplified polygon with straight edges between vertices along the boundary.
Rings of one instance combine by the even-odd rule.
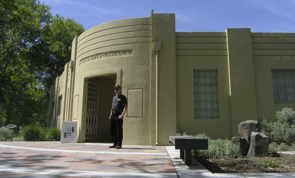
[[[98,25],[78,37],[74,96],[79,95],[79,106],[85,105],[84,83],[88,78],[116,74],[123,95],[128,96],[128,89],[143,90],[143,116],[124,116],[124,144],[150,144],[150,25],[150,18],[125,19]],[[131,54],[80,64],[86,57],[114,51]],[[109,90],[113,91],[113,87]],[[109,114],[105,119],[108,117]],[[83,110],[78,110],[78,142],[84,142],[84,119]]]

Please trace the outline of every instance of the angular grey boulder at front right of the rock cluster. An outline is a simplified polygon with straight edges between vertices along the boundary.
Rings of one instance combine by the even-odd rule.
[[[269,138],[261,132],[252,132],[251,142],[247,156],[266,157],[268,156]]]

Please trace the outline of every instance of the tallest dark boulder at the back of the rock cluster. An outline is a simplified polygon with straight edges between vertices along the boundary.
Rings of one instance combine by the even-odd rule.
[[[244,121],[239,124],[238,130],[239,130],[239,137],[246,138],[249,145],[251,133],[260,132],[260,123],[255,120]]]

